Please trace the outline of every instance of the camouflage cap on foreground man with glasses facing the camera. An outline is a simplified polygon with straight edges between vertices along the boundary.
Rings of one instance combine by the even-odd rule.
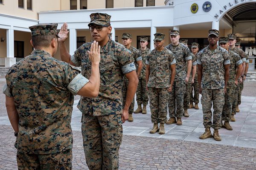
[[[88,26],[91,24],[96,24],[99,26],[110,26],[110,18],[111,16],[108,14],[102,14],[102,13],[92,13],[90,14],[90,23]]]

